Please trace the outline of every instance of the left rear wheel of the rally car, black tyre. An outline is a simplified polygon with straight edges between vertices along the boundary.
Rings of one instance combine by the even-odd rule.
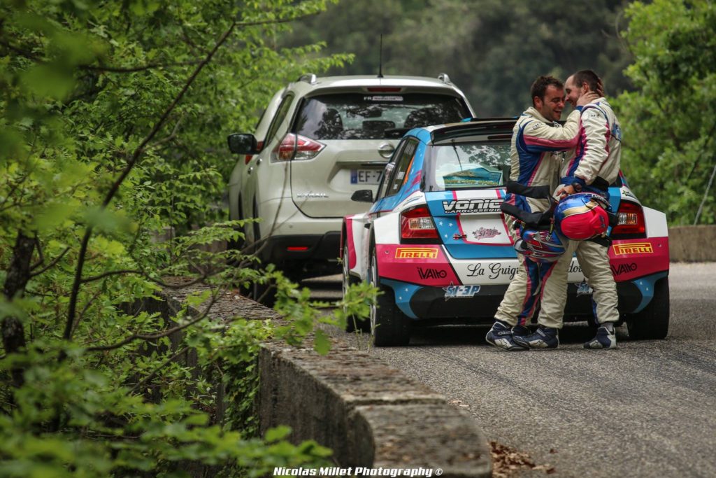
[[[370,334],[376,347],[407,345],[410,342],[410,318],[395,305],[395,293],[378,282],[378,261],[373,250],[370,255],[370,283],[379,295],[370,307]]]

